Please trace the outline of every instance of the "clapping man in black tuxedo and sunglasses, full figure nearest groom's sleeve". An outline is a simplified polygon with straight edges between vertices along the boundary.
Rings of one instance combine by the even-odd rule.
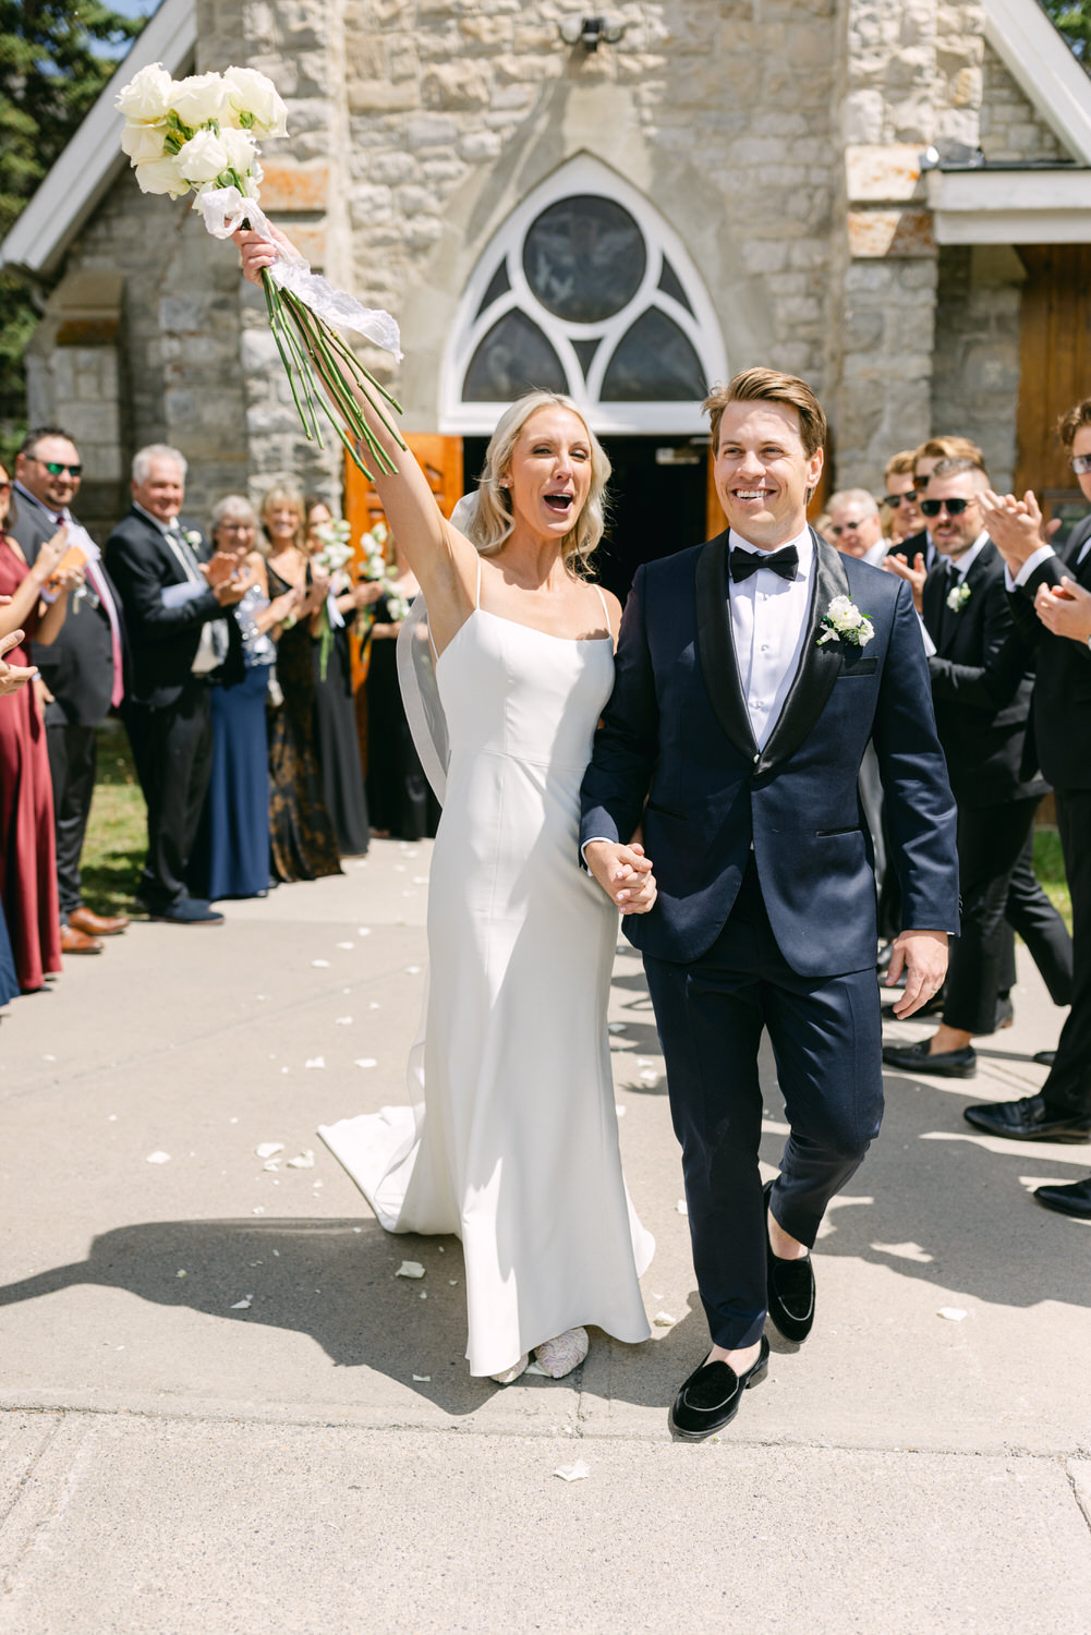
[[[1004,564],[983,528],[988,477],[970,459],[941,459],[921,500],[937,561],[921,576],[895,559],[914,592],[927,633],[936,729],[959,804],[962,932],[955,943],[939,1032],[916,1045],[888,1045],[883,1061],[913,1073],[968,1079],[977,1073],[970,1040],[996,1027],[1006,961],[1004,912],[1011,878],[1045,795],[1026,775],[1030,713],[1030,649],[1016,633],[1004,590]],[[1035,958],[1068,950],[1063,921],[1037,888],[1039,914],[1024,930]],[[1042,945],[1042,947],[1040,947]]]

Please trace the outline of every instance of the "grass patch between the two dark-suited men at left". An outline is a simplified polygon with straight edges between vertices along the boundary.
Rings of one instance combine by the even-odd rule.
[[[129,739],[119,721],[98,728],[98,778],[83,842],[83,896],[97,914],[139,914],[132,893],[147,826]]]

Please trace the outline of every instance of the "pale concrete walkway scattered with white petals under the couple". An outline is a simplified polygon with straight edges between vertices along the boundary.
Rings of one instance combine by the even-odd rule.
[[[429,860],[376,842],[222,930],[132,925],[0,1024],[0,1630],[1089,1635],[1091,1234],[1029,1189],[1091,1148],[960,1117],[1042,1082],[1063,1014],[1037,971],[975,1081],[888,1076],[811,1339],[770,1331],[769,1382],[687,1447],[666,1409],[707,1329],[631,953],[648,1344],[471,1380],[458,1243],[386,1236],[314,1135],[404,1100]]]

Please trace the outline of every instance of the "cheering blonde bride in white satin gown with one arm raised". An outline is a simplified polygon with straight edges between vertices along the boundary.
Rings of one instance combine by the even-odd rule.
[[[276,245],[236,242],[260,281]],[[535,1352],[559,1378],[587,1323],[648,1339],[654,1249],[622,1179],[605,1015],[617,911],[648,912],[656,886],[633,844],[612,906],[577,847],[622,613],[586,577],[610,464],[569,399],[530,392],[501,417],[461,533],[373,432],[399,466],[376,486],[427,598],[450,762],[415,1105],[319,1133],[389,1231],[461,1238],[469,1372],[509,1383]]]

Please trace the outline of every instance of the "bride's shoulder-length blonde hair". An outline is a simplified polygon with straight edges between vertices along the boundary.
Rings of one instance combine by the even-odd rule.
[[[512,464],[519,433],[538,409],[554,407],[568,409],[582,422],[590,446],[590,490],[584,508],[561,541],[564,566],[582,579],[589,572],[590,554],[605,528],[605,487],[610,479],[610,459],[572,399],[564,397],[561,392],[527,392],[525,397],[517,397],[504,410],[496,432],[489,438],[478,492],[469,497],[471,504],[466,507],[469,515],[465,523],[461,517],[458,520],[451,518],[451,522],[456,526],[463,526],[466,538],[476,544],[483,556],[496,556],[502,549],[514,528],[512,500],[509,490],[502,487],[502,479]],[[460,507],[465,504],[465,500],[460,500]]]

